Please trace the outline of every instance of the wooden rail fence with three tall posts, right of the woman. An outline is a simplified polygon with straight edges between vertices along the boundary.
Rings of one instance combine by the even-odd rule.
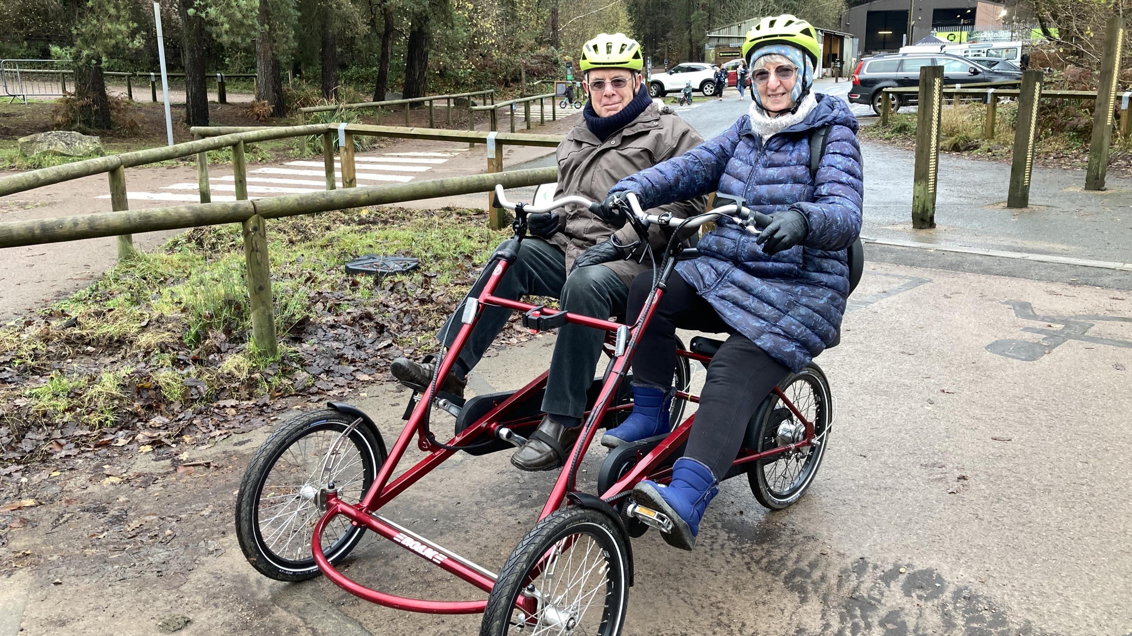
[[[1038,132],[1038,105],[1040,100],[1094,101],[1092,138],[1089,146],[1089,165],[1086,171],[1086,190],[1104,190],[1108,167],[1108,154],[1113,135],[1113,112],[1120,110],[1120,130],[1127,139],[1132,132],[1132,92],[1117,101],[1117,78],[1120,75],[1121,43],[1124,36],[1124,20],[1110,18],[1107,23],[1105,48],[1100,68],[1099,91],[1043,91],[1040,70],[1022,74],[1018,88],[1005,88],[1003,83],[994,85],[966,85],[944,88],[943,67],[921,67],[918,87],[884,88],[883,92],[899,98],[900,95],[918,93],[916,110],[916,170],[912,183],[912,227],[935,227],[936,177],[940,161],[940,120],[944,96],[958,101],[960,97],[981,97],[986,103],[983,137],[995,136],[997,103],[1002,97],[1018,100],[1018,119],[1014,127],[1013,156],[1011,161],[1010,186],[1006,207],[1024,208],[1030,201],[1030,177],[1034,171],[1034,147]],[[1017,83],[1014,83],[1017,84]],[[881,126],[887,126],[892,100],[881,100]]]

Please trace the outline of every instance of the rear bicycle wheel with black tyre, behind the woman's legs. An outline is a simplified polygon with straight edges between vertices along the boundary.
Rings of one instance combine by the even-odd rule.
[[[801,371],[787,377],[779,388],[795,407],[814,424],[815,446],[772,455],[753,462],[747,472],[751,491],[760,504],[772,510],[781,510],[799,498],[809,488],[825,455],[830,426],[833,420],[833,404],[825,373],[816,364],[807,364]],[[763,416],[755,428],[755,450],[764,452],[801,441],[805,424],[775,394],[767,399],[770,407],[760,410]]]

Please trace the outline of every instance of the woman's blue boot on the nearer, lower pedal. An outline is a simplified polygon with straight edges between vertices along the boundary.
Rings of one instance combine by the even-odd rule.
[[[633,489],[633,499],[672,521],[672,530],[662,534],[669,545],[692,550],[704,509],[719,492],[718,484],[711,469],[692,457],[680,457],[672,464],[671,483],[642,481]]]

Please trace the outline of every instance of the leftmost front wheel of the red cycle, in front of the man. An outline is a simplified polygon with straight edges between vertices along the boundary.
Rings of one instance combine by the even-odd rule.
[[[235,531],[245,558],[275,581],[318,576],[310,538],[321,513],[319,489],[335,482],[348,504],[361,501],[385,462],[369,427],[357,427],[327,457],[354,416],[334,410],[300,415],[276,429],[256,450],[235,499]],[[326,527],[323,553],[338,562],[361,541],[365,527],[335,517]]]

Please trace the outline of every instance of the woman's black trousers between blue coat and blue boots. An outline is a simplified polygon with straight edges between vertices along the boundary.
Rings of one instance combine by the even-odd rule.
[[[789,369],[720,318],[711,303],[679,274],[672,273],[649,328],[633,356],[633,383],[668,390],[676,367],[676,329],[729,333],[707,366],[700,394],[700,410],[688,436],[686,457],[692,457],[721,479],[735,461],[758,404]],[[652,273],[645,272],[629,289],[629,317],[635,320],[652,291]]]

